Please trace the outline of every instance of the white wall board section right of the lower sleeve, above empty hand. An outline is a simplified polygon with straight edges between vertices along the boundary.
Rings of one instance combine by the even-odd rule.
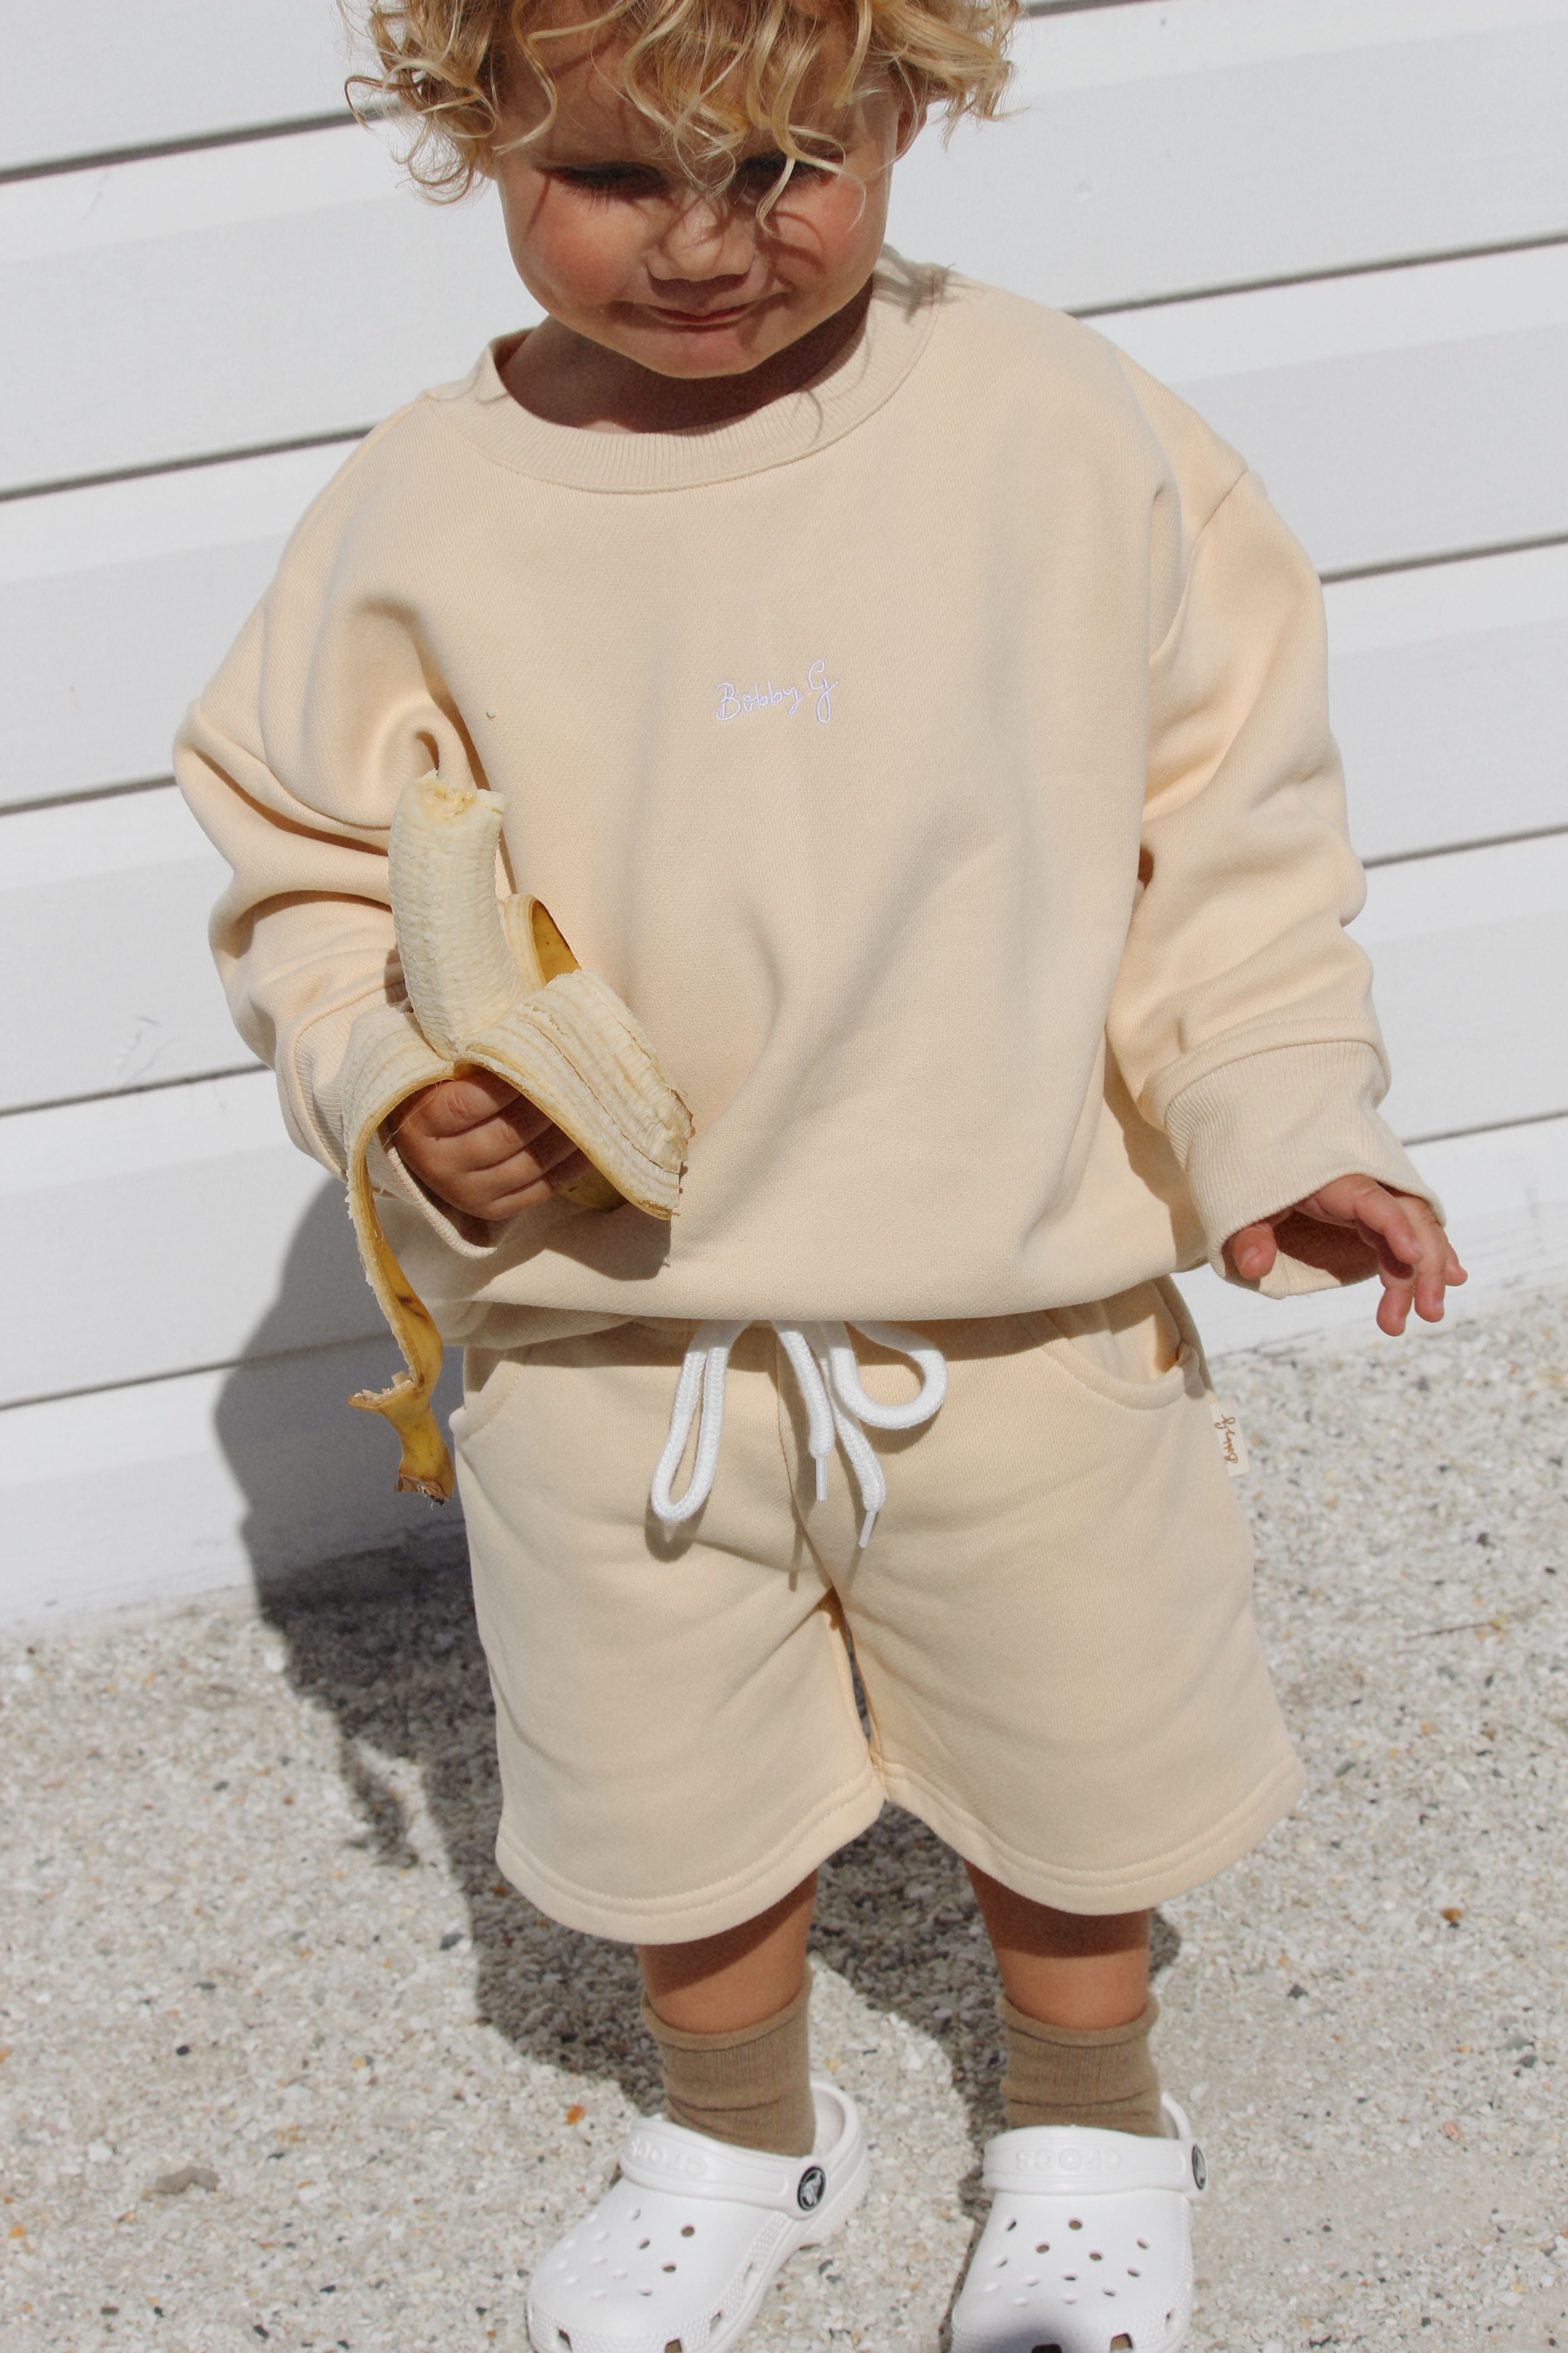
[[[1568,835],[1382,866],[1354,932],[1401,1136],[1568,1111]]]

